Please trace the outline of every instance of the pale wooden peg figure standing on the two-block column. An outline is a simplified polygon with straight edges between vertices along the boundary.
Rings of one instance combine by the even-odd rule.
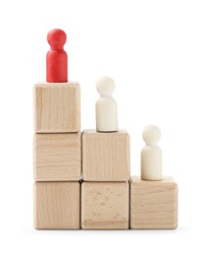
[[[118,106],[112,96],[115,82],[109,77],[102,77],[97,81],[96,89],[100,95],[95,105],[96,130],[97,132],[116,132],[118,131]]]

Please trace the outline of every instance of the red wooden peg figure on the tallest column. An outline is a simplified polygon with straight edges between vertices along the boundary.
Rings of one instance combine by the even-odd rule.
[[[47,40],[51,49],[47,52],[47,82],[68,82],[68,56],[63,46],[67,35],[62,30],[48,32]]]

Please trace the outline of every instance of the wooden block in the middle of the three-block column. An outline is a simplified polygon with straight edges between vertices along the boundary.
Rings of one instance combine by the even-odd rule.
[[[33,147],[36,181],[79,181],[80,133],[35,134]]]

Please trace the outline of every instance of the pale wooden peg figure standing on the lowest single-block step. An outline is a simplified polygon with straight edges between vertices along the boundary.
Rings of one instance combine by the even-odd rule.
[[[142,137],[146,145],[141,151],[141,179],[162,179],[162,151],[157,146],[161,131],[155,125],[146,126]]]

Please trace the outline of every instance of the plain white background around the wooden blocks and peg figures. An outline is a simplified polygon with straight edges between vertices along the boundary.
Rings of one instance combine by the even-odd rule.
[[[176,230],[32,227],[32,87],[45,80],[46,34],[67,32],[82,129],[95,127],[95,82],[116,82],[120,127],[140,173],[141,131],[162,130],[164,173],[179,184]],[[209,255],[210,2],[1,0],[0,255]]]

